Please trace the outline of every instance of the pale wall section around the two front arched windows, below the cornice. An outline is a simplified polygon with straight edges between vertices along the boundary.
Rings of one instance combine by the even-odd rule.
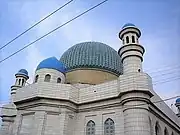
[[[115,123],[115,134],[124,135],[124,118],[121,108],[108,108],[78,113],[74,135],[86,135],[86,125],[90,120],[95,122],[95,134],[103,135],[104,122],[108,118],[111,118]]]

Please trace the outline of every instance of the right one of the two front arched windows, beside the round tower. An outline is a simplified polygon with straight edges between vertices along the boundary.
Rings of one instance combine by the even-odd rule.
[[[104,122],[104,135],[115,135],[114,121],[110,118]]]

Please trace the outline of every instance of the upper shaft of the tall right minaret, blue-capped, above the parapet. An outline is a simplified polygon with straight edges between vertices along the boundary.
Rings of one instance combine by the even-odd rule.
[[[139,44],[141,31],[131,23],[122,27],[119,38],[122,40],[122,47],[118,53],[123,63],[123,73],[142,72],[144,47]]]

